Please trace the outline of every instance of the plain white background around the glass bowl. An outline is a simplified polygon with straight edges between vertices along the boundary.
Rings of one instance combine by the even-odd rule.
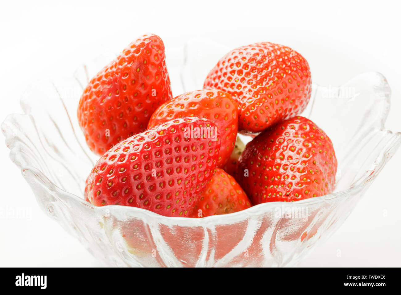
[[[105,50],[118,53],[150,32],[162,37],[166,49],[192,37],[231,47],[257,41],[285,44],[304,55],[313,82],[320,85],[341,85],[358,73],[379,71],[393,91],[386,128],[401,131],[401,18],[396,1],[53,2],[1,2],[0,121],[21,112],[19,98],[32,81],[71,76],[91,57]],[[400,164],[401,151],[346,222],[300,266],[401,266]],[[27,218],[0,217],[0,267],[102,266],[41,212],[4,144],[0,167],[0,209],[28,213]]]

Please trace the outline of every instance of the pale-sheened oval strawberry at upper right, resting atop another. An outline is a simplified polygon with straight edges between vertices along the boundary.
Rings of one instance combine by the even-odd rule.
[[[290,47],[260,42],[227,53],[207,75],[204,87],[231,94],[238,102],[239,131],[257,134],[306,108],[310,69]]]

